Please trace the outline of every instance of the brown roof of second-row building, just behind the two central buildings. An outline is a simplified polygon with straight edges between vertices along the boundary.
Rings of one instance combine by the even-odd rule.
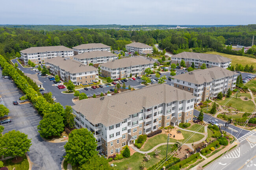
[[[110,53],[108,51],[91,51],[91,52],[75,55],[74,58],[84,59],[84,58],[111,57],[111,56],[117,56],[117,55]]]

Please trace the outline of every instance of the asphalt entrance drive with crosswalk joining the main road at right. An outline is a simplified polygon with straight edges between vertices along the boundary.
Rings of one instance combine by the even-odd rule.
[[[194,109],[194,115],[195,116],[198,117],[199,113],[200,113],[199,111]],[[225,121],[222,121],[220,119],[217,119],[216,117],[212,117],[210,115],[204,114],[204,121],[209,122],[210,120],[214,120],[217,123],[225,124]],[[229,127],[233,128],[234,130],[237,130],[238,132],[231,132],[231,130],[229,130],[227,128],[224,128],[224,127],[221,127],[221,129],[230,133],[230,134],[232,133],[232,135],[234,135],[237,139],[250,132],[249,130],[244,130],[244,129],[238,128],[236,126],[233,126],[231,124],[229,125]]]

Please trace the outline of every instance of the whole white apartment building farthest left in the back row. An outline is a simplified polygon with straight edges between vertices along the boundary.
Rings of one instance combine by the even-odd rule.
[[[35,64],[41,64],[57,56],[70,59],[74,56],[74,51],[65,46],[30,47],[20,51],[20,57],[24,64],[28,64],[28,60]]]

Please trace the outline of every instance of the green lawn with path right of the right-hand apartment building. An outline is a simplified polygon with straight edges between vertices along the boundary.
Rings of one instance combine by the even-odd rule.
[[[220,105],[225,104],[225,106],[230,106],[230,104],[232,104],[231,107],[233,107],[241,112],[251,113],[254,109],[254,104],[252,101],[242,101],[241,99],[239,99],[239,98],[236,99],[234,97],[232,99],[230,99],[230,101],[228,101],[229,99],[230,98],[226,98],[223,101],[217,101],[217,103],[219,103]],[[242,109],[243,109],[243,111],[242,111]]]

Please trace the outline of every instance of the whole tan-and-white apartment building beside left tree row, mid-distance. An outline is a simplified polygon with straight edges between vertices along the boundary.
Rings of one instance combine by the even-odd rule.
[[[58,75],[61,80],[71,80],[75,85],[95,82],[98,79],[98,69],[76,60],[54,57],[47,60],[46,66],[50,73]]]

